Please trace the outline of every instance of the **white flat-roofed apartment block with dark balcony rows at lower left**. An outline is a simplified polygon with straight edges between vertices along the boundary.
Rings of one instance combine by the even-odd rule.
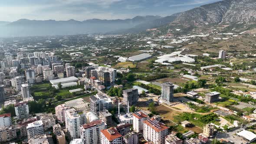
[[[33,123],[28,124],[28,126],[26,127],[26,131],[28,134],[28,139],[43,134],[43,122],[34,121]]]

